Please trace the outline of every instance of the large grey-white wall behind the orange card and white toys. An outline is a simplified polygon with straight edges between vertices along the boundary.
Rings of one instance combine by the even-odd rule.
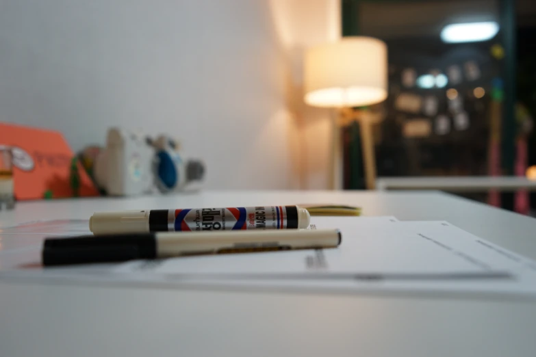
[[[313,1],[314,2],[314,1]],[[307,4],[303,4],[307,8]],[[0,0],[0,121],[173,133],[209,188],[298,186],[287,57],[268,1]]]

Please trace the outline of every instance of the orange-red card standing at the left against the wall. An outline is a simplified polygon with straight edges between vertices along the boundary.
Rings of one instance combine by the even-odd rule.
[[[80,163],[73,165],[75,155],[58,131],[0,122],[1,144],[13,147],[17,200],[99,194]]]

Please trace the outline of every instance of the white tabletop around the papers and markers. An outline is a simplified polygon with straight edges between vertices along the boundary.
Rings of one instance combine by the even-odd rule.
[[[0,227],[93,211],[346,203],[448,220],[536,259],[536,220],[435,192],[218,191],[18,202]],[[536,356],[536,303],[0,280],[0,356]]]

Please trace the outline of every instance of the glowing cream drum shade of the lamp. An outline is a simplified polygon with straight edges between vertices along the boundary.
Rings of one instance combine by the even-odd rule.
[[[305,103],[359,107],[387,98],[387,45],[377,38],[345,37],[305,54]]]

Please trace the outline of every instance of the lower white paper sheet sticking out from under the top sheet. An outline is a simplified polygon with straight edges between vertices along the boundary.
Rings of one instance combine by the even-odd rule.
[[[465,230],[452,226],[447,222],[400,222],[400,228],[417,228],[420,233],[433,237],[438,243],[449,243],[463,252],[473,252],[481,263],[510,272],[511,277],[505,278],[441,278],[434,276],[429,279],[331,279],[331,280],[298,280],[298,279],[181,279],[184,284],[190,281],[197,286],[224,286],[227,288],[284,290],[284,291],[324,291],[338,293],[403,293],[411,295],[462,295],[492,297],[522,297],[536,299],[536,262],[520,254],[497,246],[472,235]],[[441,226],[438,229],[438,225]],[[168,280],[170,280],[168,278]]]

